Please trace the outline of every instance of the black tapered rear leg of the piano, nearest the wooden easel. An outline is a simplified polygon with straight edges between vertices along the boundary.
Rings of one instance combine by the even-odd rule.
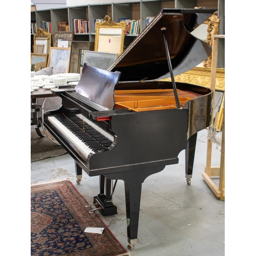
[[[195,159],[195,151],[196,151],[196,143],[197,143],[197,133],[192,135],[187,140],[187,148],[185,150],[185,168],[186,168],[186,180],[187,184],[190,185],[192,173],[193,173],[193,165],[194,165],[194,159]]]

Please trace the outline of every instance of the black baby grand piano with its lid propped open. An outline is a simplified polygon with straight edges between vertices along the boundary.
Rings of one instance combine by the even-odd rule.
[[[185,150],[190,183],[197,132],[211,120],[212,91],[175,82],[174,76],[211,54],[190,32],[214,12],[163,9],[108,71],[85,63],[74,89],[52,89],[62,105],[44,113],[44,125],[74,158],[77,183],[82,170],[100,177],[94,204],[102,215],[117,214],[109,182],[124,181],[130,250],[137,241],[143,181],[177,164]],[[168,73],[172,82],[157,80]]]

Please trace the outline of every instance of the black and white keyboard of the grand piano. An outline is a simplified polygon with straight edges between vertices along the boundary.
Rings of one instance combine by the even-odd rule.
[[[86,158],[90,153],[107,150],[114,139],[81,114],[59,114],[48,116],[48,120],[75,144]]]

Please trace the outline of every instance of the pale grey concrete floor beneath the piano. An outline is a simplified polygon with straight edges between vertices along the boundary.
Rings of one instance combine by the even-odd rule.
[[[221,132],[217,134],[221,138]],[[216,198],[202,178],[206,165],[207,130],[198,133],[191,184],[185,179],[185,151],[179,164],[146,178],[142,184],[138,243],[131,256],[220,256],[225,252],[225,201]],[[212,147],[211,166],[220,165],[220,150]],[[99,193],[99,178],[85,172],[76,184],[74,160],[68,155],[31,163],[31,185],[69,179],[92,203]],[[215,180],[218,185],[218,179]],[[127,249],[123,181],[117,182],[113,202],[118,214],[103,217],[118,241]]]

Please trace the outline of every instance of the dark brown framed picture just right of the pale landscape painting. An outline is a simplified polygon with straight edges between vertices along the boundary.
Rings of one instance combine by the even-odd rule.
[[[83,65],[84,50],[93,51],[94,42],[72,41],[69,73],[80,73],[80,64]]]

